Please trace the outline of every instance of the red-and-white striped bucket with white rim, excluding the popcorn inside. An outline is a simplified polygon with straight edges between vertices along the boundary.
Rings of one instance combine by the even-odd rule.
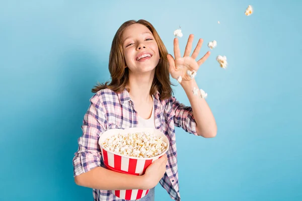
[[[164,142],[167,143],[167,149],[160,155],[151,158],[138,158],[131,156],[124,156],[121,154],[114,153],[109,149],[105,149],[102,143],[109,137],[116,134],[128,134],[128,133],[139,133],[149,132],[155,136],[163,137]],[[105,131],[99,139],[99,145],[101,147],[102,157],[104,164],[107,169],[132,175],[142,175],[146,168],[156,159],[164,155],[169,149],[169,140],[159,130],[155,128],[129,128],[129,129],[110,129]],[[127,189],[127,190],[112,190],[113,194],[119,198],[132,200],[139,199],[145,196],[149,190],[142,189]]]

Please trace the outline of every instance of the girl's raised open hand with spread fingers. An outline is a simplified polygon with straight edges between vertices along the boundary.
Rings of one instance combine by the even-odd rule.
[[[209,57],[210,52],[208,51],[201,59],[196,61],[196,57],[199,54],[200,48],[202,46],[203,40],[199,39],[197,46],[193,52],[193,54],[190,56],[191,49],[192,49],[192,42],[193,42],[193,34],[189,36],[188,43],[185,49],[184,56],[181,57],[180,50],[179,50],[179,44],[178,44],[178,38],[174,39],[174,56],[175,59],[171,54],[167,55],[168,61],[169,61],[169,71],[171,76],[174,79],[177,79],[179,76],[182,77],[182,80],[189,81],[191,80],[191,77],[187,74],[187,70],[190,71],[197,71],[199,66]]]

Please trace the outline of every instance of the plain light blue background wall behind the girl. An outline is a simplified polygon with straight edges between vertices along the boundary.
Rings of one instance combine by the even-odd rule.
[[[248,5],[254,14],[247,17]],[[215,138],[176,129],[183,200],[302,200],[301,1],[0,1],[0,200],[92,200],[72,157],[113,36],[145,19],[173,54],[217,41],[196,80]],[[220,24],[217,23],[220,21]],[[217,55],[228,58],[222,69]],[[173,80],[177,83],[176,80]],[[180,102],[189,105],[180,85]],[[170,200],[158,185],[156,200]]]

